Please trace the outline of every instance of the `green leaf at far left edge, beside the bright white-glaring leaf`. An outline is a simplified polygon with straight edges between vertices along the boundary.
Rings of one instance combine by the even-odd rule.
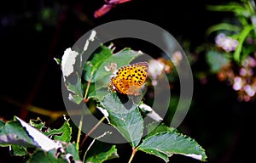
[[[0,128],[0,146],[38,147],[18,121],[9,121]]]

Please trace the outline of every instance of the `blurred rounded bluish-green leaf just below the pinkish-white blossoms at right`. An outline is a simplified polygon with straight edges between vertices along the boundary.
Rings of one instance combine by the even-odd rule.
[[[225,65],[230,64],[230,59],[224,53],[209,51],[207,53],[207,63],[213,73],[221,70]]]

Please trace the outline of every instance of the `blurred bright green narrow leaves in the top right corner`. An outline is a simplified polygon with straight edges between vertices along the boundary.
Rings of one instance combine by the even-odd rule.
[[[230,22],[222,22],[218,25],[212,25],[207,30],[207,35],[210,35],[213,31],[227,33],[229,37],[235,38],[238,41],[238,45],[233,53],[233,59],[236,63],[240,64],[241,60],[248,55],[247,48],[255,47],[253,44],[246,42],[247,39],[256,40],[256,25],[255,25],[255,6],[250,1],[241,1],[241,3],[228,3],[225,5],[207,6],[208,10],[218,12],[231,12],[235,14],[234,19],[230,19]],[[232,22],[233,21],[233,22]],[[234,48],[235,48],[234,47]],[[223,48],[223,47],[222,47]],[[255,50],[255,48],[254,48]]]

